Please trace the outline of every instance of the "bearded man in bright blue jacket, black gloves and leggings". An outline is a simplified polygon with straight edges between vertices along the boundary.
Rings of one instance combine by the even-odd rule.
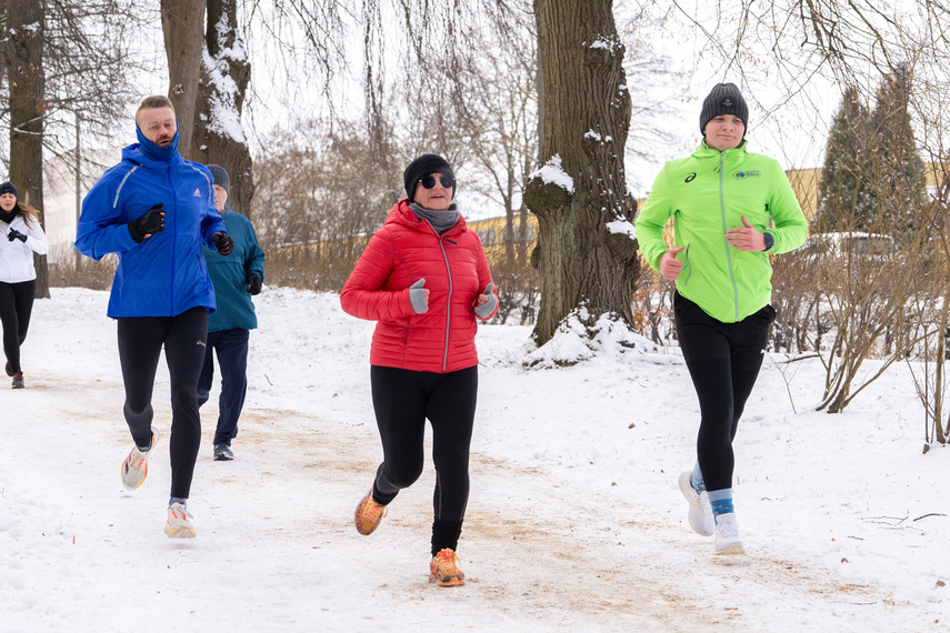
[[[82,201],[76,248],[119,257],[108,315],[118,319],[122,408],[134,445],[122,462],[127,490],[142,485],[158,441],[152,389],[164,346],[171,382],[171,499],[166,534],[196,535],[186,510],[201,443],[197,386],[214,288],[202,244],[227,255],[233,242],[214,208],[211,173],[178,152],[178,121],[166,97],[136,112],[138,143],[122,150]]]

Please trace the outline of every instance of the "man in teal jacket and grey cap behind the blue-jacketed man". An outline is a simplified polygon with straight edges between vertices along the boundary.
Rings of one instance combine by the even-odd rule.
[[[214,178],[214,205],[221,213],[224,229],[234,240],[234,252],[229,257],[204,250],[218,298],[218,311],[208,318],[208,346],[198,380],[198,405],[208,402],[214,379],[213,352],[217,352],[221,395],[218,398],[214,460],[220,462],[234,459],[231,440],[238,435],[238,418],[248,392],[248,339],[250,330],[258,326],[251,295],[261,291],[264,252],[258,244],[251,221],[228,208],[228,194],[231,193],[228,172],[217,164],[209,164],[208,170]]]

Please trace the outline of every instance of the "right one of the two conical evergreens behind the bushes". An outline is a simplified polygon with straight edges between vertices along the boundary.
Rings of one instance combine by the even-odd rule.
[[[871,212],[877,231],[908,234],[927,191],[927,172],[910,125],[910,73],[901,64],[884,77],[871,114],[877,151],[869,165]]]

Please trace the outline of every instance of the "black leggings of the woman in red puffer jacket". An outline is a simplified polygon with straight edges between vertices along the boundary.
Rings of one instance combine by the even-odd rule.
[[[372,405],[383,461],[373,482],[373,499],[390,503],[422,474],[426,419],[432,424],[432,554],[454,550],[469,500],[469,448],[472,439],[478,366],[431,373],[373,365]]]

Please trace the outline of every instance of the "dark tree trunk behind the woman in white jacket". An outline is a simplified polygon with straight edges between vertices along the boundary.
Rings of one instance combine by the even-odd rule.
[[[7,2],[7,72],[10,80],[10,181],[19,200],[40,211],[43,222],[43,8],[33,0]],[[33,255],[38,299],[49,299],[46,255]]]

